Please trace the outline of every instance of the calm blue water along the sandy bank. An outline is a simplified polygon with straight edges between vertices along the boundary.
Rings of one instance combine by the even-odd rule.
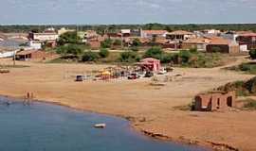
[[[135,132],[121,118],[34,102],[0,98],[0,151],[205,151],[156,141]],[[106,128],[93,125],[105,123]]]

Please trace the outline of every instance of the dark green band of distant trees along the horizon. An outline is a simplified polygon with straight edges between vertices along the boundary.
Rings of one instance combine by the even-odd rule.
[[[2,32],[29,32],[34,29],[37,32],[42,32],[48,27],[60,29],[66,27],[69,29],[76,29],[77,25],[0,25]],[[256,31],[256,24],[223,24],[223,25],[163,25],[163,24],[146,24],[146,25],[80,25],[81,30],[96,30],[99,34],[103,34],[107,29],[109,32],[115,32],[123,28],[142,28],[142,29],[163,29],[168,31],[173,30],[204,30],[215,28],[219,30],[252,30]]]

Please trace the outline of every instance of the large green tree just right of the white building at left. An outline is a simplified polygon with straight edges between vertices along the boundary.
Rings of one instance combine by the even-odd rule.
[[[58,40],[58,45],[64,45],[66,43],[81,43],[82,39],[78,36],[76,31],[65,32]]]

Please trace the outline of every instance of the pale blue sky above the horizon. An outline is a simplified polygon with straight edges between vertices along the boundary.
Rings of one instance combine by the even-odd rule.
[[[256,23],[256,0],[0,0],[0,25]]]

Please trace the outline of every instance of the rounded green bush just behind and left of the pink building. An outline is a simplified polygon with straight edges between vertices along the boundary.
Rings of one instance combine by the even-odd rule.
[[[139,60],[137,53],[132,51],[122,52],[119,56],[119,61],[121,62],[136,62]]]

